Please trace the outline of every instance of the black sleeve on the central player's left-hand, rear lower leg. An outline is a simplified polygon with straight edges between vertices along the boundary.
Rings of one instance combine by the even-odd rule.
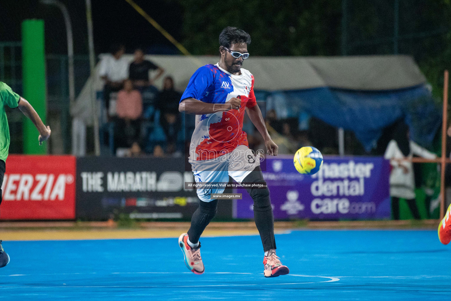
[[[210,202],[199,201],[199,207],[194,211],[191,217],[191,227],[188,230],[188,238],[193,244],[199,241],[199,237],[205,230],[205,227],[215,217],[218,211],[218,200],[214,199]]]

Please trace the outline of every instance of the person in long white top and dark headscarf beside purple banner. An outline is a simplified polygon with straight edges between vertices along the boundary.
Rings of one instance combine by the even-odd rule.
[[[393,219],[399,219],[399,199],[406,200],[407,205],[415,219],[420,219],[420,214],[415,201],[415,180],[412,161],[413,155],[435,159],[436,154],[429,152],[409,139],[409,127],[404,122],[400,123],[393,139],[388,143],[384,157],[390,160],[393,167],[390,174],[391,211]],[[408,159],[408,160],[404,160]]]

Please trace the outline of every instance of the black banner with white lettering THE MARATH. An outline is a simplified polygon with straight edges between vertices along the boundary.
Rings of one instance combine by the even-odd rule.
[[[184,188],[194,181],[184,168],[184,158],[78,158],[77,218],[189,219],[199,199]]]

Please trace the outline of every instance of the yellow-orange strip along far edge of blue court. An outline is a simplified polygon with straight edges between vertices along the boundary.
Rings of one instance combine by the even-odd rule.
[[[275,233],[291,230],[435,230],[438,220],[400,221],[292,221],[274,222]],[[108,222],[0,222],[3,241],[64,241],[97,239],[177,238],[187,232],[189,222],[136,222],[136,228],[120,228]],[[257,227],[249,222],[212,222],[203,233],[210,236],[258,235]]]

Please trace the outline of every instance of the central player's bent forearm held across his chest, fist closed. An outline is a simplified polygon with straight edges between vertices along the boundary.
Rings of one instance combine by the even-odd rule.
[[[179,103],[179,111],[192,115],[212,114],[218,111],[239,109],[240,104],[241,99],[235,97],[230,98],[226,103],[207,103],[198,99],[187,98]]]

